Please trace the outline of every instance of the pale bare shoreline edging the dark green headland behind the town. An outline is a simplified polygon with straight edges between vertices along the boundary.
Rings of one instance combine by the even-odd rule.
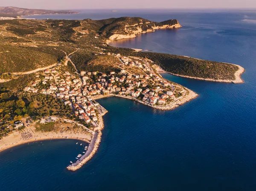
[[[200,59],[199,59],[200,60]],[[231,64],[231,63],[226,63],[226,64]],[[160,66],[154,66],[154,68],[157,70],[157,72],[160,73],[169,73],[175,76],[180,76],[180,77],[187,77],[187,78],[191,78],[191,79],[196,79],[196,80],[205,80],[205,81],[212,81],[212,82],[223,82],[223,83],[244,83],[244,80],[242,80],[241,78],[241,74],[244,73],[245,69],[239,65],[236,64],[232,64],[235,66],[238,66],[238,70],[235,73],[235,78],[236,80],[215,80],[212,78],[201,78],[201,77],[191,77],[191,76],[184,76],[184,75],[180,75],[180,74],[174,74],[172,72],[169,71],[165,71],[163,68],[161,68]]]

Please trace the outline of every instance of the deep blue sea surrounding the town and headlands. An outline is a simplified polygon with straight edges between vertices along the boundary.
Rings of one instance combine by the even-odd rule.
[[[90,10],[37,19],[143,17],[183,26],[120,40],[142,48],[245,68],[243,84],[163,74],[199,94],[172,111],[117,97],[99,100],[109,112],[98,152],[75,172],[76,140],[48,140],[0,153],[0,191],[255,191],[256,11]]]

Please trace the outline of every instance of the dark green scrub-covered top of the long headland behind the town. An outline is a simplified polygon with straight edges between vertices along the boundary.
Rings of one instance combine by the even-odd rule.
[[[152,52],[128,53],[128,55],[146,57],[161,66],[165,71],[177,75],[210,78],[215,80],[235,80],[238,66],[191,57]]]

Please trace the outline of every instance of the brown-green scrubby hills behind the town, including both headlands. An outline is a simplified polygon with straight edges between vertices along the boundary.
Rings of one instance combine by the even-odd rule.
[[[132,37],[138,32],[177,25],[177,20],[155,23],[139,17],[105,20],[0,20],[0,58],[5,63],[0,73],[49,66],[63,60],[65,52],[70,54],[79,48],[79,51],[70,56],[79,70],[105,72],[115,69],[115,63],[119,60],[99,54],[110,52],[123,56],[147,57],[166,71],[177,75],[234,80],[238,70],[234,65],[171,54],[134,52],[129,48],[115,48],[106,44],[113,37]]]

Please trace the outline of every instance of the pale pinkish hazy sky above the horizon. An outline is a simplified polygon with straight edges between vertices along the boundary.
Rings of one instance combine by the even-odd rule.
[[[256,9],[256,0],[0,0],[28,9]]]

